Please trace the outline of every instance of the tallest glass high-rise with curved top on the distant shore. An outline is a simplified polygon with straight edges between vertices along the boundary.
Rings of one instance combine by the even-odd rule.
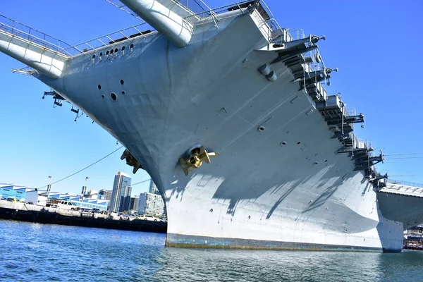
[[[127,174],[118,171],[114,179],[113,190],[111,192],[110,210],[123,212],[128,210],[130,202],[130,182],[132,178]]]

